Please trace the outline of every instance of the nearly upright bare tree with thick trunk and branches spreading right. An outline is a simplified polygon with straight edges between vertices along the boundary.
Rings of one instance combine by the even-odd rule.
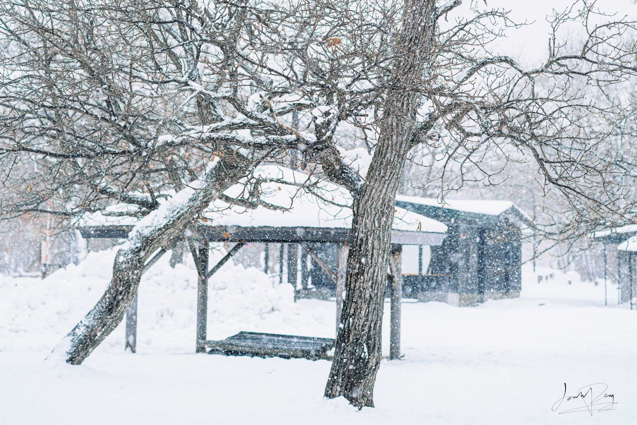
[[[345,396],[358,407],[373,406],[390,220],[411,148],[446,148],[443,187],[452,164],[461,173],[471,166],[495,176],[497,170],[483,162],[489,152],[506,159],[511,147],[530,155],[545,187],[560,191],[571,206],[575,220],[565,226],[569,233],[582,234],[583,228],[590,231],[633,211],[626,191],[617,190],[625,185],[607,155],[608,131],[599,122],[591,127],[590,117],[619,112],[620,104],[606,94],[637,71],[634,22],[600,22],[607,17],[586,2],[581,10],[555,13],[547,60],[524,69],[487,48],[500,35],[493,22],[514,25],[505,12],[477,12],[455,25],[440,24],[460,3],[406,1],[399,29],[392,31],[389,89],[375,122],[378,142],[364,182],[352,190],[347,294],[325,393]],[[569,20],[582,22],[586,33],[571,51],[559,41],[559,28]]]

